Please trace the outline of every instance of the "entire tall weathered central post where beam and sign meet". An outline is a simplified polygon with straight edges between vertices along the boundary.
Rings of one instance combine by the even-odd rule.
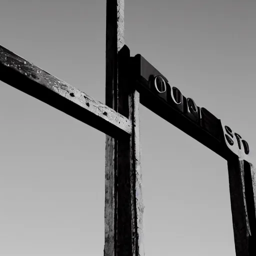
[[[139,94],[128,88],[124,0],[106,0],[106,105],[129,118],[131,136],[106,135],[104,256],[142,256]]]

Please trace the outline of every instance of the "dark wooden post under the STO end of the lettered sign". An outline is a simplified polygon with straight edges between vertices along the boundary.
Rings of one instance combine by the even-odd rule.
[[[254,167],[235,154],[227,166],[236,256],[256,255]]]

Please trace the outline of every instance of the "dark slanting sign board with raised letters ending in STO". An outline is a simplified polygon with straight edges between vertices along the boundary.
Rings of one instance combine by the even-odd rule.
[[[246,140],[214,114],[185,97],[144,57],[130,57],[132,82],[140,93],[140,102],[179,129],[186,132],[224,158],[231,152],[249,162],[250,148]]]

